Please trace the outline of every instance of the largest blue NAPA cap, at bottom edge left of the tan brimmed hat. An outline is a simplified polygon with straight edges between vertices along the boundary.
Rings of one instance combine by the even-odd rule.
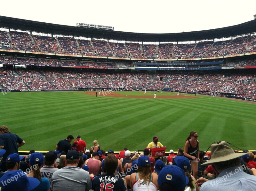
[[[163,183],[172,184],[172,188],[162,186]],[[169,190],[182,190],[188,184],[188,177],[185,175],[184,171],[175,165],[164,166],[160,171],[157,178],[158,187]]]

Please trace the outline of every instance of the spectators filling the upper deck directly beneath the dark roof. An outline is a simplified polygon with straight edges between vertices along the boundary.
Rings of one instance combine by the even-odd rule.
[[[60,44],[58,44],[58,41]],[[92,41],[76,40],[73,37],[52,38],[49,36],[30,35],[27,32],[1,31],[0,42],[0,48],[9,50],[140,59],[220,57],[250,53],[256,50],[255,35],[218,42],[141,45],[130,42],[116,43],[95,39]]]

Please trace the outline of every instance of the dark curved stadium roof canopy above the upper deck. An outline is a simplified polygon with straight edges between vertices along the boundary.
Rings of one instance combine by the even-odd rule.
[[[73,27],[4,16],[0,16],[0,27],[38,33],[99,38],[119,41],[181,42],[218,39],[255,33],[256,19],[230,27],[216,28],[203,31],[164,34],[131,33],[122,31]]]

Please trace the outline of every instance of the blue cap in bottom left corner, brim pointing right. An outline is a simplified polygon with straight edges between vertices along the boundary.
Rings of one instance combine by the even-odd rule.
[[[27,175],[20,170],[5,172],[0,178],[0,182],[3,182],[3,184],[1,184],[1,191],[29,191],[40,184],[38,179],[27,177]]]

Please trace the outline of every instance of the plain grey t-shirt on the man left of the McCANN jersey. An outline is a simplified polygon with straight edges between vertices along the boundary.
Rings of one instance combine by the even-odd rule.
[[[52,174],[54,191],[74,190],[89,191],[92,181],[89,172],[76,166],[65,166]]]

